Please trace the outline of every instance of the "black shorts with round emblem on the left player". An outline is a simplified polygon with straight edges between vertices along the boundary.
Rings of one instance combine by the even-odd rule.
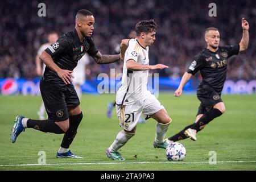
[[[57,85],[40,81],[40,91],[49,119],[65,121],[69,118],[68,107],[80,105],[79,97],[72,84]]]

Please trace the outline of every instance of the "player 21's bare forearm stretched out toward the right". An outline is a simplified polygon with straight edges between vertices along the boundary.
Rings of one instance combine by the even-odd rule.
[[[156,64],[156,65],[144,65],[139,64],[135,62],[134,60],[130,59],[126,61],[126,68],[131,71],[143,71],[143,70],[149,70],[149,69],[164,69],[169,68],[167,65],[164,64]]]

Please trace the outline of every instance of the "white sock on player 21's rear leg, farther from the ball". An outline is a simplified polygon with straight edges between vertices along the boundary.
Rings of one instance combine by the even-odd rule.
[[[112,143],[112,145],[109,147],[109,149],[114,152],[117,152],[119,150],[119,148],[124,146],[126,144],[126,142],[128,142],[128,140],[131,139],[131,137],[133,137],[134,135],[135,135],[135,133],[126,133],[123,130],[120,131],[117,134],[117,137],[115,137],[115,140]]]

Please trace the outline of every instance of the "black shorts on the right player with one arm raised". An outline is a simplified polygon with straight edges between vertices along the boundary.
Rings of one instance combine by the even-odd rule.
[[[204,114],[213,108],[218,102],[223,102],[221,100],[221,94],[218,94],[214,89],[209,86],[200,90],[197,90],[197,98],[200,100],[201,104],[198,108],[197,114]]]

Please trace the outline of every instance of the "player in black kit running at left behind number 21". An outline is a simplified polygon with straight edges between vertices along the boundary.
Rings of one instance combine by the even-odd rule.
[[[76,26],[72,31],[49,46],[40,55],[46,64],[46,71],[40,81],[40,91],[48,114],[47,120],[34,120],[18,115],[15,118],[11,141],[26,128],[43,132],[63,134],[57,158],[81,158],[68,149],[76,136],[82,120],[79,97],[72,85],[72,70],[77,61],[87,52],[98,64],[108,64],[121,60],[121,55],[101,55],[90,36],[93,32],[94,16],[88,10],[76,14]]]

